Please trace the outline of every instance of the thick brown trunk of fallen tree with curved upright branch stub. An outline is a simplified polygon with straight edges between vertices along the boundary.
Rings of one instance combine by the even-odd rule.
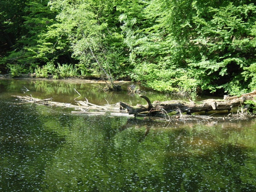
[[[138,113],[147,112],[149,114],[160,114],[160,113],[170,113],[170,112],[179,112],[192,114],[195,112],[205,111],[224,111],[227,110],[230,112],[233,107],[244,105],[244,102],[248,100],[255,100],[256,90],[251,93],[246,93],[241,96],[224,96],[224,99],[206,99],[201,102],[185,102],[181,100],[173,101],[154,101],[152,104],[146,96],[140,95],[145,99],[148,105],[137,105],[131,106],[124,102],[119,102],[122,108],[126,108],[129,114],[134,114],[135,116]]]

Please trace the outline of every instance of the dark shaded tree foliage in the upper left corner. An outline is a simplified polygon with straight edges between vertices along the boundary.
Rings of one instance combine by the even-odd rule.
[[[16,28],[10,28],[9,33],[14,36],[17,31],[18,35],[15,35],[15,41],[12,41],[13,50],[8,52],[1,61],[2,64],[9,67],[12,76],[33,72],[36,65],[42,62],[38,59],[35,48],[40,35],[47,32],[47,26],[53,23],[55,17],[55,13],[47,7],[48,0],[21,1],[19,6],[13,7],[13,4],[16,5],[16,3],[9,3],[9,5],[15,11],[16,17],[19,17],[19,23],[13,23],[13,25],[16,24]],[[11,15],[6,17],[10,18]],[[8,34],[6,33],[6,35]]]

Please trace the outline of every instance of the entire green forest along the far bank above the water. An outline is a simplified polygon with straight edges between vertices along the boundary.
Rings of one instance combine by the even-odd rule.
[[[254,0],[1,0],[0,71],[132,79],[161,92],[256,88]]]

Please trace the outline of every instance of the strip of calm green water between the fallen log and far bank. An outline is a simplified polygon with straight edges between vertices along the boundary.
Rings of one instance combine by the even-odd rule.
[[[86,82],[86,81],[84,81]],[[94,81],[93,81],[94,82]],[[122,100],[129,104],[137,105],[146,104],[145,100],[140,98],[137,94],[127,94],[127,87],[131,84],[130,82],[120,81],[119,84],[124,91],[119,92],[103,92],[99,90],[99,86],[104,87],[105,84],[95,83],[83,83],[81,81],[59,81],[59,80],[34,80],[34,79],[0,79],[0,87],[3,94],[10,95],[21,95],[26,96],[30,94],[34,98],[46,99],[53,98],[55,102],[65,102],[75,104],[74,99],[83,100],[86,97],[89,102],[97,105],[115,104]],[[24,92],[22,89],[24,86],[29,90]],[[155,100],[169,100],[171,96],[155,94],[146,87],[137,84],[141,90],[145,91],[146,95],[153,101]],[[81,94],[76,92],[78,91]]]

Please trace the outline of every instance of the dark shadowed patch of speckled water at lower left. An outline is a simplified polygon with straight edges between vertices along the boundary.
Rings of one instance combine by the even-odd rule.
[[[36,191],[55,147],[64,138],[44,130],[36,108],[1,98],[0,111],[0,190]]]

